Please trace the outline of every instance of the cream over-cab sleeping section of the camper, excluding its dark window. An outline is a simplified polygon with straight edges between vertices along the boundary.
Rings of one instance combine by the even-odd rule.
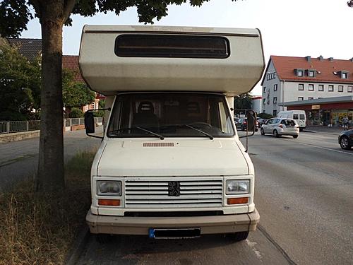
[[[229,57],[119,57],[116,37],[126,34],[220,36],[229,40]],[[80,71],[88,86],[104,95],[119,91],[203,91],[240,95],[261,78],[265,61],[256,29],[85,25]]]

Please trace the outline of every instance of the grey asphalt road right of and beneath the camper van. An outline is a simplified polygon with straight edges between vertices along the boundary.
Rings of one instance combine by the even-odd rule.
[[[248,240],[90,237],[78,264],[352,264],[353,150],[337,136],[249,139],[261,222]]]

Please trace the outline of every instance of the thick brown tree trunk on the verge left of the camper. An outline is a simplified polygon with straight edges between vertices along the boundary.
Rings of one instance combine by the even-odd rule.
[[[63,0],[47,1],[42,25],[42,92],[37,191],[64,189],[63,102],[61,83]]]

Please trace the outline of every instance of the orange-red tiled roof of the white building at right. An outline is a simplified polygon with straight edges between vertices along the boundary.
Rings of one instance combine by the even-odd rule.
[[[330,83],[353,83],[353,59],[341,60],[323,57],[312,58],[312,57],[287,57],[287,56],[275,56],[271,55],[268,61],[273,61],[277,76],[280,80],[285,81],[304,81],[304,82],[330,82]],[[267,66],[267,67],[268,67]],[[316,70],[315,77],[309,77],[307,75],[297,76],[295,69],[313,69]],[[265,73],[267,73],[266,69]],[[342,79],[339,71],[348,71],[348,78]],[[263,76],[265,80],[266,74]],[[262,81],[262,83],[263,83]],[[261,83],[261,85],[262,85]]]

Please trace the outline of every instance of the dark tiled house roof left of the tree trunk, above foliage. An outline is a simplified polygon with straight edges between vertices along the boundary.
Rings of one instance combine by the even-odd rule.
[[[12,39],[8,38],[11,45],[16,45],[18,51],[27,59],[32,60],[42,53],[42,40],[41,39]]]

